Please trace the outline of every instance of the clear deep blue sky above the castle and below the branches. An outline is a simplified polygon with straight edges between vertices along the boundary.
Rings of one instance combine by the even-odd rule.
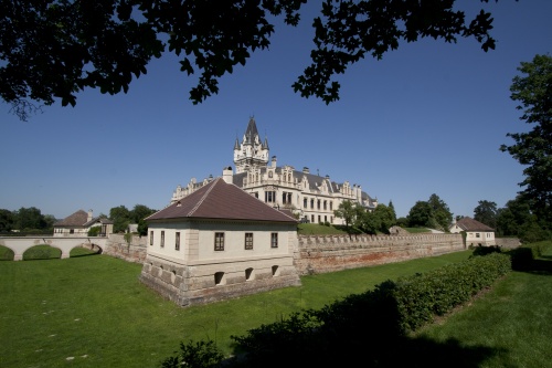
[[[162,209],[179,183],[233,167],[250,116],[279,166],[360,185],[392,201],[397,217],[432,193],[455,215],[473,217],[479,200],[501,208],[520,190],[523,167],[499,147],[512,143],[507,133],[530,128],[509,87],[520,62],[552,52],[552,1],[457,2],[470,14],[491,10],[495,51],[465,39],[403,43],[350,67],[329,106],[290,87],[309,64],[317,1],[200,105],[188,94],[195,77],[171,55],[152,61],[127,94],[85,91],[74,108],[56,103],[26,123],[0,103],[0,209],[35,207],[57,219]]]

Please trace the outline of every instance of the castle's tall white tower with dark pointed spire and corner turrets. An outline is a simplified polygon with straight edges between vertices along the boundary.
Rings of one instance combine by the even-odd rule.
[[[261,143],[255,118],[250,118],[242,143],[234,143],[234,165],[236,174],[244,172],[247,167],[261,167],[268,164],[268,140]]]

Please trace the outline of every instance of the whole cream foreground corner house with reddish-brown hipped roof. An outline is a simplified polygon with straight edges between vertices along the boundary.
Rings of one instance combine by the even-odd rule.
[[[179,305],[300,285],[294,266],[297,220],[236,187],[229,176],[146,221],[140,280]]]

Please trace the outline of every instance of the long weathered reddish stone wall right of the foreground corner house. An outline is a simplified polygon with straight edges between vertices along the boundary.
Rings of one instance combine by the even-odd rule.
[[[465,250],[460,234],[299,235],[300,275],[365,267]]]

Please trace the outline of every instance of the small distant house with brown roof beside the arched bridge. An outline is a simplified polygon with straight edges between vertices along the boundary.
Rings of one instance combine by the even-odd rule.
[[[99,227],[99,236],[113,233],[113,221],[105,218],[94,218],[92,210],[78,210],[65,219],[54,223],[54,236],[86,236],[88,230]]]

